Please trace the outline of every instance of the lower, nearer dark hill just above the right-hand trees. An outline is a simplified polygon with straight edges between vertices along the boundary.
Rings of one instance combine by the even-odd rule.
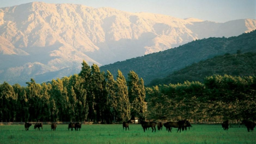
[[[250,76],[256,75],[256,53],[244,54],[225,54],[216,56],[212,59],[193,63],[179,71],[162,79],[154,79],[151,85],[158,84],[176,84],[184,81],[200,81],[203,82],[206,76],[211,75],[233,75],[233,76]]]

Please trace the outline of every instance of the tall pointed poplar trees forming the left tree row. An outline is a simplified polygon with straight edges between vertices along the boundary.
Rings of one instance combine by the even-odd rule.
[[[0,121],[127,121],[145,115],[142,78],[130,71],[128,79],[118,70],[116,80],[83,61],[82,70],[61,79],[26,87],[0,84]]]

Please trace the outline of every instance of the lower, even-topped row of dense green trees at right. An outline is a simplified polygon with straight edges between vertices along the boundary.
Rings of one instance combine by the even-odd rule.
[[[204,83],[146,88],[149,118],[194,121],[256,120],[256,77],[214,75]]]

